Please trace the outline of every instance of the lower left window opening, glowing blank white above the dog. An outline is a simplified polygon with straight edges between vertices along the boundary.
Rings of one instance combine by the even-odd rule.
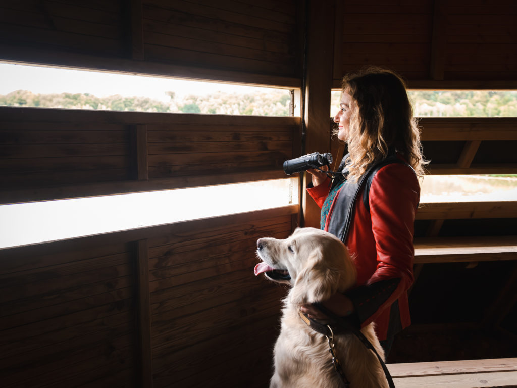
[[[298,204],[298,181],[286,178],[2,205],[0,248]]]

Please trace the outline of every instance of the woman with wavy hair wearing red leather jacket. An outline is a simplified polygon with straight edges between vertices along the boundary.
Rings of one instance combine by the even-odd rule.
[[[344,77],[334,122],[349,154],[333,180],[327,171],[309,170],[308,193],[322,207],[322,229],[340,237],[352,253],[358,276],[356,288],[323,305],[361,327],[375,322],[387,353],[394,335],[410,324],[417,175],[425,164],[419,130],[404,82],[379,68]],[[300,311],[327,318],[312,305]]]

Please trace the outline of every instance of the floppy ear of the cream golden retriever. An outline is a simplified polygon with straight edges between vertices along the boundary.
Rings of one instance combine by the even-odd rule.
[[[315,248],[289,294],[289,300],[296,305],[327,300],[339,288],[339,271],[325,265],[323,250]]]

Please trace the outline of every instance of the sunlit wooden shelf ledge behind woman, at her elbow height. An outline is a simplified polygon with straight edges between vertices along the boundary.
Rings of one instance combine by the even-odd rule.
[[[517,236],[415,239],[415,263],[517,260]]]

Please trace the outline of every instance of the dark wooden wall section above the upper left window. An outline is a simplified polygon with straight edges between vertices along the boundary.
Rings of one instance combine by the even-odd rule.
[[[301,86],[294,0],[3,1],[0,15],[2,59]]]

